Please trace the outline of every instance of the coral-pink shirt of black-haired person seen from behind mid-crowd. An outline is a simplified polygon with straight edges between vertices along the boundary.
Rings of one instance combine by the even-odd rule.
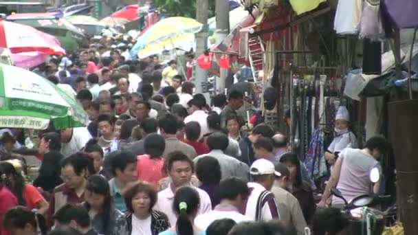
[[[164,159],[151,159],[149,155],[139,155],[137,157],[136,176],[140,181],[146,181],[152,186],[157,187],[158,182],[166,177],[164,173]]]

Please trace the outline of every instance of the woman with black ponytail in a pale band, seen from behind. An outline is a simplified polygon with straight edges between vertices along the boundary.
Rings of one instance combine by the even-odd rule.
[[[195,217],[199,210],[199,193],[185,186],[175,192],[173,210],[177,214],[177,223],[159,235],[205,235],[206,232],[195,226]]]

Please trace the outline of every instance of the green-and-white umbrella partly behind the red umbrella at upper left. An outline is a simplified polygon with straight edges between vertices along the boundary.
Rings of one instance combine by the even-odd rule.
[[[56,36],[61,46],[69,51],[74,51],[87,43],[87,38],[82,30],[72,25],[65,19],[13,19],[16,23],[30,25],[36,30]]]

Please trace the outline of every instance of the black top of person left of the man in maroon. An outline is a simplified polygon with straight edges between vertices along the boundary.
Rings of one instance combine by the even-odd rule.
[[[44,191],[52,192],[56,186],[63,183],[60,167],[60,161],[63,158],[64,156],[58,151],[45,153],[41,168],[39,168],[39,175],[34,180],[33,185],[41,187]]]

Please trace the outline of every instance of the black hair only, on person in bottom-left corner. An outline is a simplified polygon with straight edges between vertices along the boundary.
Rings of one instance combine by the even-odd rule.
[[[37,223],[35,213],[23,206],[17,206],[5,213],[2,221],[7,230],[23,230],[27,224],[32,225],[36,231]]]

